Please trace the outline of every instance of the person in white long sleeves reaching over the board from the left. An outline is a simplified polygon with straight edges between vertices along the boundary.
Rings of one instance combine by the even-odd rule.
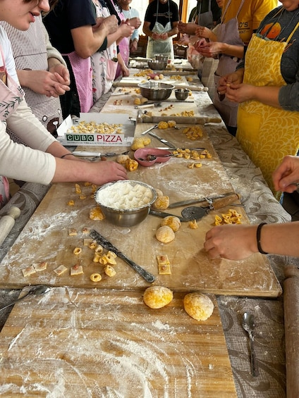
[[[19,30],[28,30],[42,11],[49,11],[48,0],[0,0],[0,20]],[[126,170],[118,163],[78,161],[56,141],[25,102],[11,44],[1,26],[0,49],[0,207],[9,199],[7,178],[45,185],[80,181],[102,185],[126,180]],[[13,142],[6,125],[28,147]]]

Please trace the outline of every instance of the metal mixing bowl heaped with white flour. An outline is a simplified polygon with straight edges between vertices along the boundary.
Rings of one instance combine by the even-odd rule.
[[[102,203],[102,200],[99,199],[99,196],[105,197],[105,190],[107,191],[107,195],[109,195],[109,192],[112,190],[116,190],[116,192],[121,191],[121,185],[130,183],[133,187],[135,185],[140,185],[142,187],[146,187],[150,189],[152,192],[152,199],[147,204],[142,204],[138,207],[134,207],[132,209],[115,209],[114,207],[111,206],[106,206],[105,204]],[[131,194],[132,191],[130,191]],[[123,194],[122,198],[124,198],[126,194]],[[115,182],[108,182],[108,184],[103,185],[99,189],[97,189],[97,192],[94,194],[94,199],[99,204],[99,206],[102,209],[102,212],[109,223],[117,225],[118,227],[132,227],[133,225],[137,225],[141,223],[145,218],[147,218],[147,215],[150,213],[150,206],[154,203],[154,201],[157,199],[157,192],[154,190],[153,187],[150,185],[145,184],[145,182],[140,182],[140,181],[133,181],[133,180],[121,180],[121,181],[115,181]]]

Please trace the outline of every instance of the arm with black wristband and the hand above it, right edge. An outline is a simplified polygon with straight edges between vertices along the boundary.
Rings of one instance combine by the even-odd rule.
[[[297,189],[298,182],[299,157],[286,156],[273,173],[274,187],[291,193]],[[218,225],[207,232],[204,247],[210,259],[243,260],[258,252],[299,257],[298,234],[299,221]]]

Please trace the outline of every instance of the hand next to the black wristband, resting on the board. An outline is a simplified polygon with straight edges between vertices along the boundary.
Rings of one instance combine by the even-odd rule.
[[[247,259],[258,251],[256,233],[256,225],[218,225],[207,232],[204,248],[209,259]]]

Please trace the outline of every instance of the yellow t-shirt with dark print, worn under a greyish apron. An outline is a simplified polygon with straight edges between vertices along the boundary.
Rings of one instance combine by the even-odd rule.
[[[222,13],[226,9],[229,0],[224,0]],[[226,13],[224,14],[224,23],[232,18],[236,18],[241,0],[231,0]],[[252,36],[252,30],[256,30],[264,17],[273,8],[277,7],[277,0],[245,0],[240,13],[238,14],[239,34],[244,44],[248,44]]]

